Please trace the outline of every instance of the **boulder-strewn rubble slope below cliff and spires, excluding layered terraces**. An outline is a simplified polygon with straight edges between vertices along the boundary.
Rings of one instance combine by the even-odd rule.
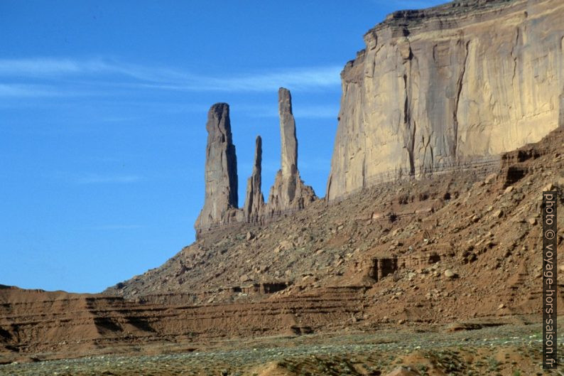
[[[558,129],[504,154],[499,164],[382,183],[329,206],[318,200],[266,225],[225,227],[107,292],[159,303],[182,293],[181,301],[201,304],[358,285],[374,291],[378,316],[396,303],[433,306],[434,299],[442,312],[459,317],[492,313],[499,301],[536,312],[541,190],[564,186],[562,146]],[[444,285],[447,269],[460,278]],[[396,293],[402,298],[390,304]],[[472,308],[456,308],[460,301]],[[439,312],[423,316],[442,317]]]

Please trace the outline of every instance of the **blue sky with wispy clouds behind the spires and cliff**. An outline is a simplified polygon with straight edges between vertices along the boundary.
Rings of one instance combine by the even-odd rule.
[[[231,107],[239,204],[278,87],[325,194],[340,70],[386,14],[442,1],[0,1],[0,284],[102,291],[194,240],[205,120]]]

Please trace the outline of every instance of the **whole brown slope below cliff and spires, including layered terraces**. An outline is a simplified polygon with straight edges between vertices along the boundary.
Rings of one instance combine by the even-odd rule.
[[[558,129],[504,154],[500,165],[383,183],[266,225],[225,227],[105,295],[1,286],[0,361],[185,351],[234,337],[536,321],[541,191],[564,188],[563,146]],[[562,245],[564,216],[558,229]]]

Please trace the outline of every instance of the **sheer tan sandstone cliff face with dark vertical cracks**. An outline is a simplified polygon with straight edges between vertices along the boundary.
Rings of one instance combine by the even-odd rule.
[[[564,122],[564,2],[399,11],[341,73],[327,198],[538,141]]]

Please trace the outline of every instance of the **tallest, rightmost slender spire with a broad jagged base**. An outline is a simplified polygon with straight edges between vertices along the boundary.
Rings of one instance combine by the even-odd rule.
[[[295,120],[292,114],[290,91],[278,90],[280,114],[281,169],[276,173],[269,195],[267,214],[276,215],[284,210],[303,209],[313,200],[313,188],[305,186],[298,171],[298,139],[295,136]]]

